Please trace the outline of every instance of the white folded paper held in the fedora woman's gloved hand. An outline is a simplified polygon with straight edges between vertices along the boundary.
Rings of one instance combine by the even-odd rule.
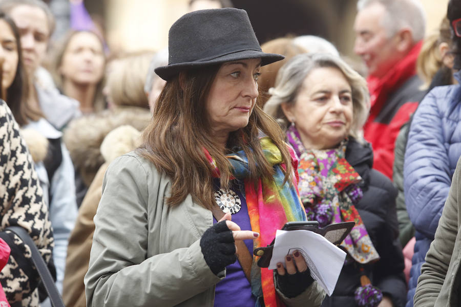
[[[346,253],[322,235],[308,230],[277,230],[269,269],[275,270],[277,263],[285,264],[285,256],[298,250],[306,260],[313,279],[330,296],[343,268]]]

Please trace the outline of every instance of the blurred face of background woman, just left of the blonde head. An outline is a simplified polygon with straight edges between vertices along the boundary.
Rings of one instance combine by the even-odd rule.
[[[102,79],[105,62],[99,38],[91,32],[78,32],[69,40],[59,73],[64,82],[95,85]]]

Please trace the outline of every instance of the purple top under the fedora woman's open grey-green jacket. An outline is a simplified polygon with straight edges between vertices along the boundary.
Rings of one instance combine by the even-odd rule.
[[[219,181],[215,181],[216,190],[219,189]],[[232,221],[242,230],[252,230],[246,207],[245,196],[239,189],[239,185],[233,184],[231,189],[239,196],[241,209],[232,214]],[[213,223],[217,221],[213,218]],[[244,240],[246,247],[253,254],[253,240]],[[252,287],[240,266],[239,261],[226,267],[226,278],[216,284],[215,306],[241,306],[255,307],[256,297],[252,294]]]

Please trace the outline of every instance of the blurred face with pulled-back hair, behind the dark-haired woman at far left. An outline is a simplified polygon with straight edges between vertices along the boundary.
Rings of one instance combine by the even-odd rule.
[[[43,10],[29,5],[18,5],[10,12],[21,37],[24,67],[32,77],[46,56],[50,28]]]

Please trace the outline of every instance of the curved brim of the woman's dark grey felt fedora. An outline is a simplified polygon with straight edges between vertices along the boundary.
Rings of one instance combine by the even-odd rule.
[[[275,54],[275,53],[264,53],[259,50],[243,50],[243,51],[233,52],[233,53],[226,54],[226,55],[223,55],[223,56],[220,56],[214,59],[209,59],[209,60],[169,64],[166,66],[157,67],[154,71],[160,78],[168,81],[184,70],[195,69],[195,68],[204,67],[208,65],[214,65],[214,64],[224,63],[224,62],[231,62],[231,61],[236,61],[236,60],[256,59],[256,58],[261,58],[261,66],[264,66],[270,63],[283,60],[285,57],[283,55]]]

